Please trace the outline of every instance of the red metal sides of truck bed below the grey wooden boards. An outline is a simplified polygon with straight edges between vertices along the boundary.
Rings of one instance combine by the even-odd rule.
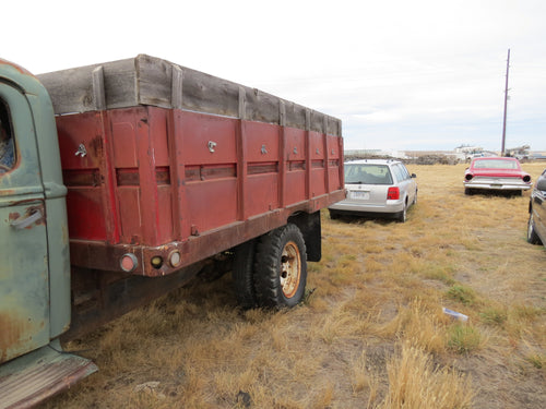
[[[117,270],[134,252],[133,274],[169,274],[151,258],[180,251],[188,265],[342,199],[325,194],[343,189],[341,139],[319,132],[147,106],[58,123],[82,267]]]

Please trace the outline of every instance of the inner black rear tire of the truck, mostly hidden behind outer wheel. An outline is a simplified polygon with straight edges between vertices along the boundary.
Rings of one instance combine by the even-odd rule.
[[[244,309],[257,305],[254,290],[256,240],[249,240],[235,248],[233,267],[235,298]]]

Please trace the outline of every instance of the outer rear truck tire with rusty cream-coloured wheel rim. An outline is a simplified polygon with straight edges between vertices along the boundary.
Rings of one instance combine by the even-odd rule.
[[[263,234],[257,245],[256,298],[260,306],[292,308],[305,296],[307,252],[298,227],[293,224]]]

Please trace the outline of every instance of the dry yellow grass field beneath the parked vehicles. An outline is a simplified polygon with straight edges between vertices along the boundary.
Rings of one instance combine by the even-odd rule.
[[[408,169],[405,224],[323,210],[300,306],[242,311],[229,275],[197,280],[67,345],[100,371],[43,408],[546,408],[530,193],[465,196],[464,165]]]

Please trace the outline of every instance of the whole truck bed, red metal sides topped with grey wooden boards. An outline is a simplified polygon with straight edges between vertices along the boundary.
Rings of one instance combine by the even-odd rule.
[[[166,275],[344,197],[335,118],[149,56],[38,79],[73,265],[121,270],[133,253],[132,274]]]

